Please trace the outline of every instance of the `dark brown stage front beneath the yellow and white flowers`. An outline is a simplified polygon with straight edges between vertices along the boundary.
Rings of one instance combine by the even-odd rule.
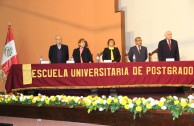
[[[170,94],[141,94],[139,96],[160,98]],[[130,95],[129,97],[133,97]],[[177,94],[179,97],[187,97],[185,94]],[[20,117],[33,119],[47,119],[69,122],[81,122],[111,126],[193,126],[194,114],[183,113],[181,117],[173,121],[170,111],[149,110],[148,112],[133,118],[133,113],[119,109],[115,113],[108,111],[93,111],[88,114],[83,107],[68,108],[66,106],[44,105],[18,105],[0,104],[0,116]]]

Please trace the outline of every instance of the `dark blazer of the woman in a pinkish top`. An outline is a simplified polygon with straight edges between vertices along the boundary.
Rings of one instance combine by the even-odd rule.
[[[89,63],[89,62],[93,63],[92,54],[88,48],[85,47],[83,49],[81,56],[82,56],[83,63]],[[75,63],[81,63],[80,48],[76,48],[73,50],[73,58]]]

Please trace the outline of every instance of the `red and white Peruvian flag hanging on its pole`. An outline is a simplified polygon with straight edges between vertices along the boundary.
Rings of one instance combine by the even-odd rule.
[[[3,57],[1,61],[1,66],[6,76],[8,76],[9,69],[11,68],[12,64],[18,64],[18,58],[11,25],[8,25],[7,39],[5,42]]]

